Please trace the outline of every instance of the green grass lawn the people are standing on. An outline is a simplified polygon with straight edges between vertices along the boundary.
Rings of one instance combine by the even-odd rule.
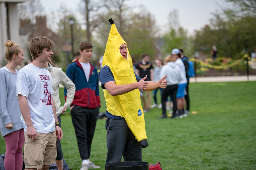
[[[105,112],[101,88],[100,96],[100,112]],[[149,146],[143,149],[143,161],[159,161],[164,170],[256,169],[256,82],[191,83],[190,99],[191,111],[197,114],[182,119],[158,120],[158,108],[145,113]],[[69,112],[62,115],[62,130],[64,159],[70,169],[79,170],[81,159]],[[4,138],[0,146],[0,154],[5,153]],[[106,155],[105,120],[98,120],[90,160],[103,170]]]

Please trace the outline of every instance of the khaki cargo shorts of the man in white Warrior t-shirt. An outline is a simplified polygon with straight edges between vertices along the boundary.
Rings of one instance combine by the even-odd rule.
[[[32,140],[25,135],[24,164],[25,168],[42,168],[43,165],[55,163],[57,156],[56,131],[37,133],[37,139]]]

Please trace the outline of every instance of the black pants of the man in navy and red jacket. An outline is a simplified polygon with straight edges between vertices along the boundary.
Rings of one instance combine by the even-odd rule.
[[[79,154],[82,160],[89,159],[91,153],[91,143],[96,127],[99,107],[87,109],[75,105],[70,111],[72,123],[75,128],[75,135]]]

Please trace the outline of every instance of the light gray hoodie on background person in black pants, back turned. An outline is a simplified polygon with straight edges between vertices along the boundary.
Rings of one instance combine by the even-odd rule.
[[[160,72],[160,77],[167,75],[165,80],[167,81],[167,86],[179,84],[182,80],[182,72],[181,69],[173,62],[169,61],[162,67]]]

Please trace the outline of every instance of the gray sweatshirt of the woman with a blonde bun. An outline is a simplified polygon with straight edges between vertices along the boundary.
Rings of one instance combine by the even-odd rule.
[[[6,67],[0,69],[0,131],[2,137],[14,131],[23,129],[21,111],[16,96],[16,73]],[[12,123],[13,128],[7,129],[6,124]]]

